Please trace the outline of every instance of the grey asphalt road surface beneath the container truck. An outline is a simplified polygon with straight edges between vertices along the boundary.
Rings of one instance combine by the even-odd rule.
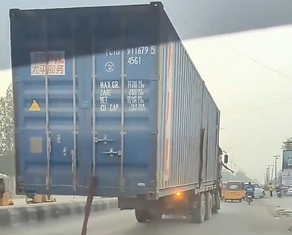
[[[292,219],[291,219],[292,220]],[[66,217],[40,224],[4,229],[9,235],[80,235],[83,217]],[[263,200],[222,203],[218,215],[202,224],[190,224],[179,217],[166,217],[160,222],[137,223],[133,211],[111,209],[92,213],[88,235],[292,235],[281,219],[275,219]]]

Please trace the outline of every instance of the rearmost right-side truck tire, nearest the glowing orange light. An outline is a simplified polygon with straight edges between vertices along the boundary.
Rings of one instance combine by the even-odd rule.
[[[194,200],[191,208],[191,222],[192,223],[202,223],[205,217],[205,196],[204,193],[200,193],[198,201]]]

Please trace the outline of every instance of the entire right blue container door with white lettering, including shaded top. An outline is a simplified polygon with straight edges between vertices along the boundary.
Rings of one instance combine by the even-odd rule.
[[[152,4],[102,8],[89,23],[89,162],[97,176],[97,196],[136,197],[153,190],[159,9]]]

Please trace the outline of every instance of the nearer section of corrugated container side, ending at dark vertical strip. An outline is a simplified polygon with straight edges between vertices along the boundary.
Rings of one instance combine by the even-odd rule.
[[[180,41],[164,45],[163,56],[159,103],[164,105],[159,110],[164,113],[157,155],[162,156],[159,187],[167,188],[199,182],[203,82]]]

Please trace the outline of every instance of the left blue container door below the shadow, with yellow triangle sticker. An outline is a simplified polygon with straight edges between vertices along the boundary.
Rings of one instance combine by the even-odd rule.
[[[74,195],[86,186],[82,158],[77,158],[82,156],[85,119],[76,61],[65,59],[64,51],[33,51],[30,57],[31,66],[14,70],[18,180],[37,193]]]

